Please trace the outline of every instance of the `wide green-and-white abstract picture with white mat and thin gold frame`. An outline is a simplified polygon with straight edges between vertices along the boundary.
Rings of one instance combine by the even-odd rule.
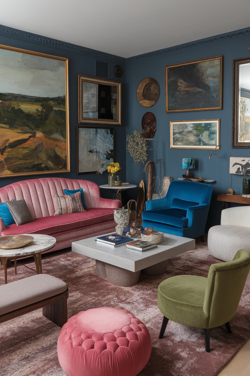
[[[171,149],[220,149],[220,119],[170,121]]]

